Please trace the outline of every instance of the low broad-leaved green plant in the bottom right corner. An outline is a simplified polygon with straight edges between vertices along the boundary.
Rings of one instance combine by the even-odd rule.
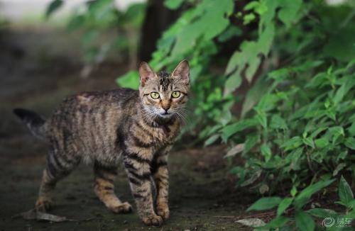
[[[351,191],[349,184],[342,177],[339,181],[339,198],[341,200],[341,204],[346,207],[344,214],[339,214],[334,210],[326,209],[326,208],[311,208],[309,210],[304,210],[305,205],[310,203],[310,198],[315,193],[321,191],[323,188],[329,186],[334,182],[334,179],[328,181],[318,181],[315,184],[307,186],[307,188],[300,191],[298,195],[291,191],[291,197],[280,198],[280,197],[266,197],[261,198],[253,205],[251,205],[247,211],[250,210],[269,210],[273,208],[277,208],[277,213],[275,218],[268,222],[265,226],[261,227],[262,229],[275,229],[279,227],[284,227],[289,230],[293,230],[297,227],[298,230],[312,231],[315,230],[317,226],[315,222],[315,218],[328,218],[334,220],[334,224],[329,225],[334,228],[337,226],[335,224],[335,220],[344,220],[346,218],[353,219],[355,218],[354,213],[354,195]],[[288,211],[288,213],[285,213]],[[285,214],[292,213],[294,215],[294,219],[286,216]],[[293,222],[295,220],[295,222]],[[323,224],[324,225],[324,224]],[[338,224],[339,227],[341,224]],[[345,227],[343,224],[343,227]],[[350,225],[350,224],[347,224]]]

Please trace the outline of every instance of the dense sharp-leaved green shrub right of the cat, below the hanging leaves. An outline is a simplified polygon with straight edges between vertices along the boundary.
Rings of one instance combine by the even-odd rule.
[[[253,116],[222,128],[224,140],[246,139],[244,172],[232,170],[243,175],[239,184],[248,180],[246,170],[250,178],[256,172],[266,176],[258,185],[268,188],[285,180],[299,186],[310,173],[315,180],[336,176],[343,169],[354,171],[349,154],[354,150],[354,62],[315,77],[307,76],[309,70],[302,64],[271,72],[268,79],[273,84],[254,107]],[[246,129],[249,133],[242,135]]]

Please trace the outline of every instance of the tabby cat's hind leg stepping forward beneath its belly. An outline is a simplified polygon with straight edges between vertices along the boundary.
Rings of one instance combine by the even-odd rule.
[[[122,203],[114,194],[114,179],[117,175],[116,167],[107,167],[94,162],[95,184],[94,191],[106,207],[114,213],[129,213],[132,208],[127,202]]]

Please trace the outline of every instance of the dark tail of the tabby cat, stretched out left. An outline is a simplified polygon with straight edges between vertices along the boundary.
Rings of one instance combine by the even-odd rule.
[[[31,130],[31,133],[40,139],[45,139],[45,118],[38,115],[34,111],[26,110],[23,108],[13,109],[13,113],[16,114],[23,123]]]

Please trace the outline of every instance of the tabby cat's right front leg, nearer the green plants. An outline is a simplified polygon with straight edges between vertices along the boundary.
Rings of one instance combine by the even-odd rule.
[[[164,220],[170,216],[168,205],[169,181],[168,181],[168,152],[171,147],[156,154],[151,164],[151,173],[157,190],[156,211]]]

